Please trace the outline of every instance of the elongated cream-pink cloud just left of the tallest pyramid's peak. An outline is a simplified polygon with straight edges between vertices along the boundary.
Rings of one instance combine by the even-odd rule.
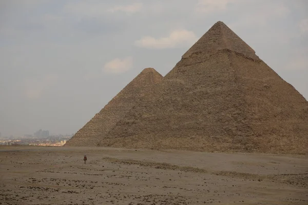
[[[191,45],[196,43],[197,40],[198,38],[192,31],[175,30],[167,37],[154,38],[151,36],[145,36],[140,40],[136,40],[135,44],[139,47],[149,49],[165,49]]]

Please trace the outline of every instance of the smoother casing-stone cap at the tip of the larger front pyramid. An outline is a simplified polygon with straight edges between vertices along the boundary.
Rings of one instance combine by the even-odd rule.
[[[254,49],[248,46],[236,33],[223,22],[216,22],[182,58],[189,58],[194,54],[208,55],[218,50],[230,50],[247,57],[259,60]]]

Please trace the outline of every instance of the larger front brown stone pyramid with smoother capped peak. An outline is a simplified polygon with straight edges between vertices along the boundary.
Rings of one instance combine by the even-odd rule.
[[[307,150],[306,99],[223,22],[211,27],[154,90],[155,96],[117,121],[101,146]]]

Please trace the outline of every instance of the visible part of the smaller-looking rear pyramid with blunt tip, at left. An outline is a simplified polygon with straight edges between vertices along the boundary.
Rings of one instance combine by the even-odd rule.
[[[162,75],[153,68],[144,69],[121,92],[80,129],[65,146],[99,146],[109,130],[132,109],[138,101],[154,97],[153,86]]]

